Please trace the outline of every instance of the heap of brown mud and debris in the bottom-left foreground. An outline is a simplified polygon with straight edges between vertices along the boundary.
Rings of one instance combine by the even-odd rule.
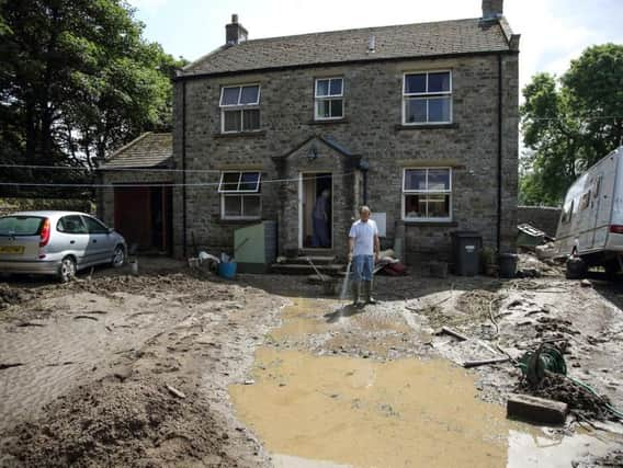
[[[111,395],[112,393],[112,395]],[[166,466],[223,458],[219,433],[207,402],[190,404],[157,381],[102,385],[97,381],[53,402],[43,420],[11,431],[3,453],[26,466]],[[197,401],[199,400],[199,401]]]

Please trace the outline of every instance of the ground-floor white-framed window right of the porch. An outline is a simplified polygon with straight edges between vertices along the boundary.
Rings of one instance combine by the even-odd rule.
[[[450,221],[452,219],[452,170],[450,168],[405,169],[403,219]]]

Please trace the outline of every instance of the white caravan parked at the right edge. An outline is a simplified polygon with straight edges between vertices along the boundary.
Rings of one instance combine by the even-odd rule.
[[[567,192],[556,231],[558,256],[578,256],[584,269],[623,267],[623,146],[586,171]]]

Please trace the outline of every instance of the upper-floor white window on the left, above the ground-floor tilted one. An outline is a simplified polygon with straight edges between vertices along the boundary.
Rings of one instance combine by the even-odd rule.
[[[260,85],[220,90],[220,129],[224,134],[260,129]]]

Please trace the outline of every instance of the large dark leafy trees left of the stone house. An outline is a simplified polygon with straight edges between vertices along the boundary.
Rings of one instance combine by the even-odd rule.
[[[123,0],[0,0],[0,161],[91,167],[170,125],[170,68],[183,60],[143,27]]]

